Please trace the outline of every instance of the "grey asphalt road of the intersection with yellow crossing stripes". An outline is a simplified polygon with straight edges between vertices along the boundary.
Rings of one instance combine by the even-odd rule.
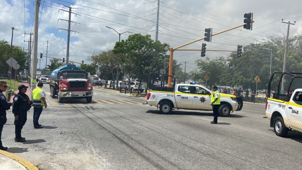
[[[94,88],[85,99],[59,104],[50,98],[33,128],[33,111],[14,142],[13,114],[2,142],[43,170],[58,169],[302,169],[300,133],[275,135],[264,119],[265,106],[244,105],[210,124],[213,113],[174,110],[162,115],[145,98]]]

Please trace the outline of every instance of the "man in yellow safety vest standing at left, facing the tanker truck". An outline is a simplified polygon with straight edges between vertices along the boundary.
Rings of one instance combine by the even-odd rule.
[[[32,92],[33,93],[33,98],[34,98],[32,106],[34,106],[33,122],[34,122],[34,128],[35,129],[43,128],[42,125],[40,125],[38,121],[39,121],[40,115],[43,111],[43,106],[45,108],[47,108],[47,103],[46,103],[46,100],[45,100],[45,93],[42,90],[42,87],[43,87],[43,83],[39,82],[38,87],[35,88]]]

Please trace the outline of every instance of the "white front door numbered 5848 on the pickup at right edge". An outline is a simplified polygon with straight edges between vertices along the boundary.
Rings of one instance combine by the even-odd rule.
[[[280,104],[279,104],[280,107]],[[281,103],[281,108],[283,109],[284,104]],[[284,123],[287,123],[293,129],[302,130],[302,91],[296,91],[291,100],[288,102],[288,105],[285,106],[287,120]]]

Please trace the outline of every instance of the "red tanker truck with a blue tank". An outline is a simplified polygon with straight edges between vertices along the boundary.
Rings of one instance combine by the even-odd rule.
[[[93,88],[85,70],[76,65],[65,65],[53,70],[50,78],[50,96],[57,98],[59,103],[63,103],[67,98],[85,98],[86,102],[91,102]]]

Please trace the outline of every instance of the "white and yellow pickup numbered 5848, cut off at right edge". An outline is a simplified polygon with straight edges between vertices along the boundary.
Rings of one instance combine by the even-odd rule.
[[[271,82],[275,74],[281,74],[279,83],[273,96],[271,93]],[[285,94],[280,94],[282,77],[287,74],[291,76],[289,86]],[[291,88],[295,78],[302,78],[302,73],[275,72],[271,75],[268,83],[268,99],[266,102],[265,115],[270,120],[270,126],[274,127],[277,136],[286,136],[289,130],[302,132],[302,89]],[[296,83],[297,84],[297,83]],[[298,83],[300,86],[300,82]],[[284,88],[285,90],[285,88]]]

